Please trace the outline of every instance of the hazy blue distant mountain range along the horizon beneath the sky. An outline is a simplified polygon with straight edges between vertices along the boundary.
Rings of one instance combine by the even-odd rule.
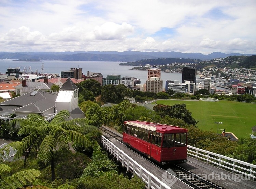
[[[189,58],[196,60],[211,60],[225,58],[227,56],[252,56],[255,54],[225,54],[213,52],[208,55],[201,53],[182,52],[140,52],[140,51],[76,51],[76,52],[0,52],[0,59],[39,59],[39,60],[63,60],[63,61],[120,61],[134,62],[142,59],[158,58]]]

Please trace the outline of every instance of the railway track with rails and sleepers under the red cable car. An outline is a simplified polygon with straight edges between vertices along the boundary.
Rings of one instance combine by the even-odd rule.
[[[116,134],[116,132],[111,130],[109,127],[102,126],[100,130],[110,135],[111,137],[115,138],[117,141],[123,142],[123,137]],[[163,169],[162,167],[159,167],[159,168]],[[170,172],[170,169],[171,169],[171,172]],[[224,187],[221,187],[208,180],[205,180],[203,177],[189,170],[186,170],[178,165],[170,166],[168,168],[165,168],[164,170],[166,170],[167,172],[175,176],[177,179],[181,180],[182,182],[186,183],[187,185],[195,189],[225,189]]]

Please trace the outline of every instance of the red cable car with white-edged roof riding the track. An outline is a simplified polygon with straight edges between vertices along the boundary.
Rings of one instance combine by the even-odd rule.
[[[125,121],[123,142],[161,165],[187,162],[187,129],[145,121]]]

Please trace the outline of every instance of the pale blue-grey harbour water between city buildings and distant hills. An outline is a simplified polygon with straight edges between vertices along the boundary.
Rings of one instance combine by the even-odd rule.
[[[0,60],[0,74],[5,74],[7,68],[17,68],[20,67],[20,71],[26,72],[42,72],[42,67],[44,73],[57,73],[60,75],[61,71],[68,71],[70,68],[82,68],[84,75],[87,75],[87,71],[94,73],[103,74],[103,78],[107,75],[121,75],[121,77],[131,76],[140,79],[141,84],[146,83],[147,71],[142,70],[132,70],[136,66],[120,66],[120,63],[124,62],[109,62],[109,61],[41,61],[41,62],[26,62],[26,61],[10,61],[10,60]],[[31,69],[29,69],[29,67]],[[163,80],[163,88],[165,88],[166,80],[178,80],[181,82],[182,73],[167,73],[161,72],[161,79]]]

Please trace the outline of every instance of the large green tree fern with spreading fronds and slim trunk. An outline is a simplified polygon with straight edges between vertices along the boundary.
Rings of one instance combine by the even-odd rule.
[[[19,158],[25,152],[24,166],[38,156],[42,162],[51,164],[52,181],[55,180],[54,151],[58,148],[69,148],[69,142],[81,143],[84,147],[91,142],[83,135],[82,126],[89,124],[85,118],[68,120],[67,110],[62,110],[52,119],[46,121],[42,116],[29,114],[27,119],[14,119],[14,124],[20,125],[18,134],[27,135],[22,139],[22,145],[17,149],[15,157]],[[68,120],[68,121],[67,121]]]

